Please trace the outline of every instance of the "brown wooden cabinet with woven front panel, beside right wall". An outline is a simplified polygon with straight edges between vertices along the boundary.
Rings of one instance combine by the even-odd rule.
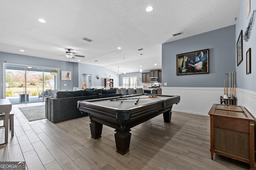
[[[254,169],[254,119],[243,106],[213,104],[210,109],[210,152],[250,164]]]

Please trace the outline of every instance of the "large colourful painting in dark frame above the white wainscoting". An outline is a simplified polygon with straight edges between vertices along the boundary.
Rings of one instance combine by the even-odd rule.
[[[209,49],[177,55],[177,75],[209,73]]]

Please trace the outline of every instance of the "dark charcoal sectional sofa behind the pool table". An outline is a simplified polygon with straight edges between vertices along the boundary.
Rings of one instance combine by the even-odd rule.
[[[46,98],[45,116],[53,123],[87,116],[77,108],[78,100],[122,96],[116,89],[86,89],[72,92],[57,92],[57,96]]]

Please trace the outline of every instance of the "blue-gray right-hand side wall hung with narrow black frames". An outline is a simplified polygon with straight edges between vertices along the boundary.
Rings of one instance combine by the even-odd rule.
[[[240,31],[243,30],[243,34],[248,27],[249,20],[252,16],[253,10],[256,10],[256,1],[250,1],[250,15],[247,18],[247,1],[241,0],[238,16],[236,19],[236,40],[240,34]],[[255,14],[256,15],[256,14]],[[251,48],[251,64],[252,64],[252,73],[246,74],[246,51]],[[236,51],[236,50],[235,50]],[[237,62],[237,61],[236,61]],[[236,84],[238,88],[245,90],[250,90],[256,92],[256,26],[254,22],[254,27],[251,31],[251,37],[249,41],[243,40],[243,61],[239,66],[236,66]]]

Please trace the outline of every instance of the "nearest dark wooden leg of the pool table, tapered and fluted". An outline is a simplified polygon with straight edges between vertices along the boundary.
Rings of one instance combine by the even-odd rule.
[[[115,130],[115,139],[116,139],[116,152],[124,155],[127,152],[129,152],[130,147],[130,141],[131,141],[131,135],[130,133],[131,129],[125,132],[121,132],[118,130]]]

